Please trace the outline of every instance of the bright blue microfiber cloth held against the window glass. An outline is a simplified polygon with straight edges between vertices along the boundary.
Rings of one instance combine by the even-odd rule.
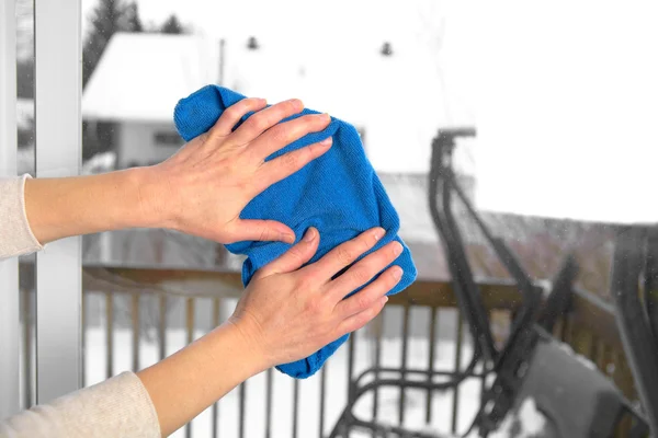
[[[204,87],[178,103],[174,111],[175,127],[181,137],[190,141],[206,132],[227,107],[242,99],[243,95],[225,88]],[[319,113],[304,110],[300,115],[305,114]],[[240,123],[250,115],[245,116]],[[268,160],[329,136],[333,137],[333,146],[328,152],[258,195],[247,205],[240,217],[281,221],[295,232],[296,241],[302,239],[309,227],[315,227],[320,233],[320,244],[309,263],[316,262],[337,245],[361,232],[379,226],[386,230],[386,234],[371,251],[393,240],[400,242],[404,247],[394,262],[404,269],[404,274],[388,295],[397,293],[413,283],[416,266],[409,249],[397,235],[398,215],[365,157],[356,129],[345,122],[332,118],[324,131],[303,137],[273,153]],[[242,265],[242,283],[247,286],[257,269],[282,255],[291,245],[283,242],[246,241],[228,244],[226,247],[231,253],[247,255]],[[349,335],[342,336],[306,359],[276,368],[294,378],[313,376],[348,337]]]

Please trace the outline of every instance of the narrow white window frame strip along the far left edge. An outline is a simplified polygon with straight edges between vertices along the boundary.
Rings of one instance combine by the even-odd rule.
[[[15,0],[0,0],[0,176],[16,175]],[[2,224],[0,224],[1,227]],[[19,263],[0,262],[0,419],[19,412]]]

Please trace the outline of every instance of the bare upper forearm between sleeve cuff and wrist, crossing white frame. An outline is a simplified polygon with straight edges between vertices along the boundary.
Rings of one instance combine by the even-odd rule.
[[[151,227],[157,218],[143,199],[144,169],[25,182],[25,211],[35,238],[46,244],[71,235]]]

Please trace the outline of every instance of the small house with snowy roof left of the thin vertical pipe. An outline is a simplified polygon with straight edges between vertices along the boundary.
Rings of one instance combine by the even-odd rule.
[[[112,122],[116,165],[148,165],[182,146],[179,99],[218,80],[218,50],[191,35],[116,34],[84,88],[82,117]]]

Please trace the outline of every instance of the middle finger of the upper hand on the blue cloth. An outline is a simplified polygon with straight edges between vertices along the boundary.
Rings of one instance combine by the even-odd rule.
[[[308,114],[282,123],[259,137],[250,147],[250,153],[258,160],[264,161],[272,153],[297,141],[307,134],[321,131],[329,126],[330,122],[331,117],[328,114]]]

